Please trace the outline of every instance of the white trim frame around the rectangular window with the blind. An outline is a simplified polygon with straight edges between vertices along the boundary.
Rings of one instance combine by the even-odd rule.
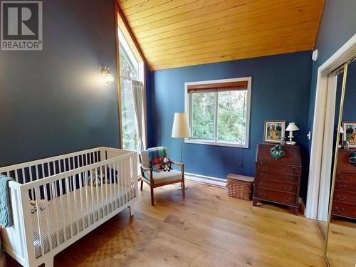
[[[188,93],[188,85],[202,85],[202,84],[209,84],[209,83],[231,83],[231,82],[239,82],[241,80],[247,80],[247,82],[248,82],[247,83],[247,108],[246,108],[246,133],[245,133],[246,144],[241,145],[237,142],[192,139],[191,137],[184,138],[184,142],[192,143],[192,144],[200,144],[200,145],[216,145],[216,146],[221,146],[221,147],[241,147],[241,148],[249,147],[252,77],[231,78],[231,79],[224,79],[224,80],[201,80],[198,82],[184,83],[184,110],[189,117],[189,125],[192,127],[192,117],[190,117],[191,103],[190,103],[190,96]],[[216,130],[216,127],[215,127],[215,130]]]

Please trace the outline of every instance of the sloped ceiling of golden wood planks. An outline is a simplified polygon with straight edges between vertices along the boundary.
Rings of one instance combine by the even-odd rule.
[[[117,0],[151,70],[312,50],[324,0]]]

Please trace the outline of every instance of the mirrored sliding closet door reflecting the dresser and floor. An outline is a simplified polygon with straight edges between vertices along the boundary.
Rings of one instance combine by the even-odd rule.
[[[325,256],[329,266],[356,266],[356,61],[335,70],[336,83],[331,175],[325,172],[324,194],[329,203]],[[335,85],[335,84],[334,84]],[[330,146],[329,146],[330,149]],[[328,168],[327,168],[328,169]],[[320,206],[320,205],[319,205]],[[325,209],[323,214],[325,216]],[[325,217],[324,217],[325,218]]]

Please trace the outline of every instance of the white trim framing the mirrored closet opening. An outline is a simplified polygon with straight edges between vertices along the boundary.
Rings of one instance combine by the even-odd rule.
[[[317,219],[318,199],[320,192],[320,176],[323,160],[325,118],[328,96],[328,73],[342,65],[356,55],[356,34],[350,38],[336,53],[318,68],[318,80],[316,84],[315,111],[313,120],[313,138],[310,153],[309,182],[305,216]],[[330,123],[329,123],[330,125]],[[333,142],[328,145],[332,150]],[[326,149],[326,148],[325,148]]]

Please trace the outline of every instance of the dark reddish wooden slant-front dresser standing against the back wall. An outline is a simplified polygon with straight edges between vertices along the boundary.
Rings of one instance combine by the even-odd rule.
[[[270,150],[276,144],[260,143],[256,153],[253,206],[268,201],[288,206],[298,215],[300,175],[302,172],[300,147],[284,145],[286,155],[274,159]]]

